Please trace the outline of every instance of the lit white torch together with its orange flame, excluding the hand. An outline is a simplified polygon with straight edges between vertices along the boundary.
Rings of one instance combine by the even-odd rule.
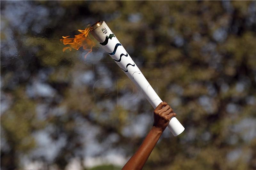
[[[98,21],[91,27],[78,31],[80,34],[75,35],[75,38],[69,38],[69,36],[62,37],[63,39],[60,41],[64,45],[69,45],[69,47],[63,48],[63,51],[67,49],[71,51],[72,48],[78,50],[83,47],[84,50],[88,50],[88,53],[84,56],[86,57],[90,52],[92,52],[92,47],[95,45],[88,37],[88,33],[92,33],[92,36],[100,42],[101,47],[108,52],[124,73],[135,83],[135,85],[141,88],[142,93],[154,108],[162,102],[154,89],[148,83],[147,79],[141,73],[140,69],[133,62],[130,55],[126,52],[122,44],[117,40],[116,36],[104,21]],[[168,128],[174,136],[178,136],[185,129],[176,117],[172,117]]]

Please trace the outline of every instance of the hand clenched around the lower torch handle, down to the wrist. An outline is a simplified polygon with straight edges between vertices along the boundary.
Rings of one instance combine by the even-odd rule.
[[[153,128],[163,132],[173,116],[176,113],[173,113],[172,108],[166,102],[161,102],[154,110]]]

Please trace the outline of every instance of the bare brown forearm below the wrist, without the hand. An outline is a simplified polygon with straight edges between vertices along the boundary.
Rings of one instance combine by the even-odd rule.
[[[148,135],[143,140],[137,152],[124,165],[123,170],[142,169],[162,133],[163,132],[161,130],[153,126],[153,128],[149,131]]]

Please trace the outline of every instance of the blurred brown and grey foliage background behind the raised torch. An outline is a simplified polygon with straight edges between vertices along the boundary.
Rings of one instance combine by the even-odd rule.
[[[105,20],[185,127],[144,169],[256,169],[255,1],[1,1],[1,169],[121,169],[153,108],[99,46]]]

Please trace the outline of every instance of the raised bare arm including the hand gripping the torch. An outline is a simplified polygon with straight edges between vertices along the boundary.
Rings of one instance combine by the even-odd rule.
[[[154,110],[154,125],[152,129],[122,170],[139,170],[143,168],[150,153],[156,146],[157,141],[173,116],[176,116],[176,114],[173,113],[172,108],[167,105],[166,102],[162,102],[156,107]]]

